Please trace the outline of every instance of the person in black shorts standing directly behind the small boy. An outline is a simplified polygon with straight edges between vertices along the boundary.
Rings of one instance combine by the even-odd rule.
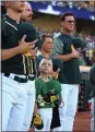
[[[41,59],[43,58],[50,58],[52,60],[52,70],[54,70],[54,71],[51,71],[50,76],[52,79],[58,79],[58,74],[59,74],[58,70],[61,69],[62,64],[61,64],[60,60],[51,57],[54,38],[50,35],[43,35],[41,39],[43,39],[41,48],[40,48],[40,50],[36,55],[36,63],[37,63],[36,65],[37,65],[37,71],[38,71],[37,73],[39,74],[38,65],[39,65],[39,62],[41,61]],[[59,109],[58,109],[58,107],[59,106],[56,105],[56,107],[52,110],[52,120],[51,120],[50,129],[60,127]]]

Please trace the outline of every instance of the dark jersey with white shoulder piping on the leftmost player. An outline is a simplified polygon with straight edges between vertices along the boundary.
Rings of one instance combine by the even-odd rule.
[[[19,46],[17,27],[20,24],[8,15],[2,15],[1,20],[1,49],[10,49]],[[22,53],[11,57],[7,60],[2,60],[1,72],[24,74]]]

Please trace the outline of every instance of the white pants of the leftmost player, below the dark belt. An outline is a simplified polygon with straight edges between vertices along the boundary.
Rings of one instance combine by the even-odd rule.
[[[11,77],[12,76],[14,76],[14,74],[11,73]],[[24,121],[25,121],[26,110],[28,109],[27,98],[28,95],[32,96],[34,92],[32,89],[33,86],[32,83],[29,81],[26,83],[19,83],[13,79],[3,75],[1,83],[2,83],[2,88],[1,88],[2,131],[22,131],[23,125],[26,125],[25,128],[27,128],[28,130],[31,121],[28,120],[28,123],[26,124],[24,123]],[[33,100],[29,100],[29,105],[32,106],[33,104],[34,104]],[[29,116],[33,115],[33,111],[31,110],[28,110]]]

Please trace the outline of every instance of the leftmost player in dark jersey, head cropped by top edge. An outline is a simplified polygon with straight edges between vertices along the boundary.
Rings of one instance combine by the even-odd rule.
[[[4,26],[1,31],[2,131],[22,131],[26,108],[29,107],[27,95],[32,95],[34,87],[27,79],[23,55],[32,50],[37,40],[25,43],[24,35],[19,41],[17,27],[25,1],[4,1],[4,4],[7,15],[2,16]]]

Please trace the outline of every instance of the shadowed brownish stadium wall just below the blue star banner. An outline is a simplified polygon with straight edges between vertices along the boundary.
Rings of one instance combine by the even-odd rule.
[[[49,15],[49,14],[38,14],[36,19],[34,19],[34,24],[37,28],[41,27],[45,32],[51,32],[54,29],[60,29],[60,16]],[[76,19],[76,31],[85,32],[91,35],[95,35],[95,22]]]

